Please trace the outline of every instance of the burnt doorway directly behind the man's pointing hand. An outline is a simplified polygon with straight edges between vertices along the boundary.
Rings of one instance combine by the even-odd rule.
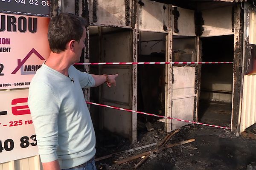
[[[90,62],[128,62],[132,59],[132,30],[90,26]],[[90,101],[131,109],[131,65],[90,65],[90,74],[116,74],[116,86],[90,88]],[[131,139],[131,113],[90,105],[96,133],[108,130]]]

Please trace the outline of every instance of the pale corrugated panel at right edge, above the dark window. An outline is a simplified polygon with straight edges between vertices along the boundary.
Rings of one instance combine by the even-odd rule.
[[[250,11],[250,23],[249,23],[249,43],[256,44],[256,12]]]

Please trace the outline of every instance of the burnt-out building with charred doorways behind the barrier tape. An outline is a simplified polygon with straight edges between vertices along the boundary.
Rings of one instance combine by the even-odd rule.
[[[255,8],[253,0],[51,0],[52,16],[89,20],[80,62],[185,62],[76,65],[119,74],[116,87],[84,89],[87,101],[160,116],[89,105],[96,133],[130,142],[156,121],[167,132],[189,123],[166,117],[220,125],[237,136],[256,123]],[[40,166],[39,157],[33,161]]]

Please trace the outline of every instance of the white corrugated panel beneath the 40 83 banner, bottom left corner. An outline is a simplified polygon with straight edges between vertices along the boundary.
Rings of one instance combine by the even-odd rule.
[[[43,167],[40,157],[32,156],[0,164],[0,170],[43,170]]]

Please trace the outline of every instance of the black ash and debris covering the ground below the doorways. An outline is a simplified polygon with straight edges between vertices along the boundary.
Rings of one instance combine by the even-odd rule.
[[[149,127],[149,128],[148,128]],[[96,133],[96,158],[123,150],[160,143],[168,133],[162,122],[137,130],[137,142],[108,132]],[[195,142],[152,153],[139,170],[256,170],[256,140],[245,139],[230,130],[202,125],[185,125],[166,144],[195,139]],[[154,150],[157,146],[113,156],[96,162],[98,170],[132,170],[141,158],[116,161]]]

